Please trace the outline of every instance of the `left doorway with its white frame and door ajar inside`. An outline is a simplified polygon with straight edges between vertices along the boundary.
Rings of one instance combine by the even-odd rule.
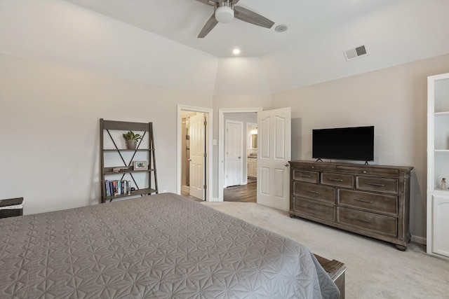
[[[212,109],[177,106],[177,194],[210,201]]]

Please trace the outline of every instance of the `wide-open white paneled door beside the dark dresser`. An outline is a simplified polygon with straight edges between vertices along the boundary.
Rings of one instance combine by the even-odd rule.
[[[290,209],[291,109],[257,113],[257,203]]]

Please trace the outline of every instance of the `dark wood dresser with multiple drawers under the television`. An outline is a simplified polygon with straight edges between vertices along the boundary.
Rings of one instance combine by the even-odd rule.
[[[412,169],[290,161],[290,217],[382,239],[405,251]]]

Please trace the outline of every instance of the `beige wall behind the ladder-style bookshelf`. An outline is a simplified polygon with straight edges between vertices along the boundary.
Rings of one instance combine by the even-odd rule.
[[[0,198],[24,213],[98,203],[99,120],[154,124],[159,190],[176,192],[177,104],[212,97],[0,54]]]

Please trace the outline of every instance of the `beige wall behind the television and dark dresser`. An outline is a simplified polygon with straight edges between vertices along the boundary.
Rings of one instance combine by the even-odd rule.
[[[311,160],[311,130],[375,126],[375,165],[413,166],[410,231],[426,235],[427,76],[447,73],[449,55],[273,95],[273,108],[300,118],[301,159]],[[295,128],[298,129],[298,128]]]

